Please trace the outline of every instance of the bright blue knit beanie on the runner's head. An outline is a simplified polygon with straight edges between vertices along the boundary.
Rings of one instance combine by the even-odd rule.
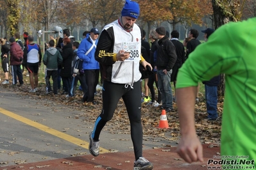
[[[137,19],[139,17],[140,7],[139,4],[130,0],[126,0],[124,8],[121,12],[123,17],[132,17]]]

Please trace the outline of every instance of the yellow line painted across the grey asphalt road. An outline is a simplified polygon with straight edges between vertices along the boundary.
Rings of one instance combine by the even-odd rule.
[[[89,143],[86,141],[83,141],[81,139],[78,139],[76,137],[73,137],[72,135],[64,134],[63,132],[60,132],[58,130],[55,130],[53,128],[47,127],[45,125],[42,125],[40,123],[37,123],[35,121],[29,120],[28,118],[24,118],[22,116],[19,116],[18,114],[15,114],[10,111],[6,111],[5,109],[0,107],[0,112],[5,114],[6,116],[9,116],[15,120],[21,121],[22,123],[26,123],[30,125],[31,127],[38,128],[39,130],[42,130],[44,132],[47,132],[48,134],[55,135],[56,137],[60,137],[61,139],[64,139],[66,141],[69,141],[70,143],[77,144],[78,146],[81,146],[82,148],[86,148],[88,150]],[[105,148],[99,148],[100,153],[109,153],[108,150]]]

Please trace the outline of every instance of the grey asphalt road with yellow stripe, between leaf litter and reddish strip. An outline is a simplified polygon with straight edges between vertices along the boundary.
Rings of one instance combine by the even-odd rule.
[[[0,86],[0,167],[90,155],[87,112],[31,98]],[[144,137],[143,150],[176,146],[175,141]],[[103,129],[101,153],[133,151],[130,134]],[[145,156],[146,157],[146,156]]]

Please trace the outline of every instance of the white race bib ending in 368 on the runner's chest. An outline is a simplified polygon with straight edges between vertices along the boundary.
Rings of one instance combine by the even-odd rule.
[[[138,42],[124,42],[123,49],[130,51],[130,58],[124,61],[141,60],[141,54],[139,54],[139,43]]]

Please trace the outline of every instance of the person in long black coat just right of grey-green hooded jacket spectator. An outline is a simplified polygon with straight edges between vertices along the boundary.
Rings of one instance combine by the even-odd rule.
[[[73,49],[70,38],[63,38],[64,46],[62,48],[62,68],[60,70],[60,76],[62,77],[62,83],[64,86],[64,94],[68,94],[67,97],[71,96],[71,72],[72,72],[72,59]]]

